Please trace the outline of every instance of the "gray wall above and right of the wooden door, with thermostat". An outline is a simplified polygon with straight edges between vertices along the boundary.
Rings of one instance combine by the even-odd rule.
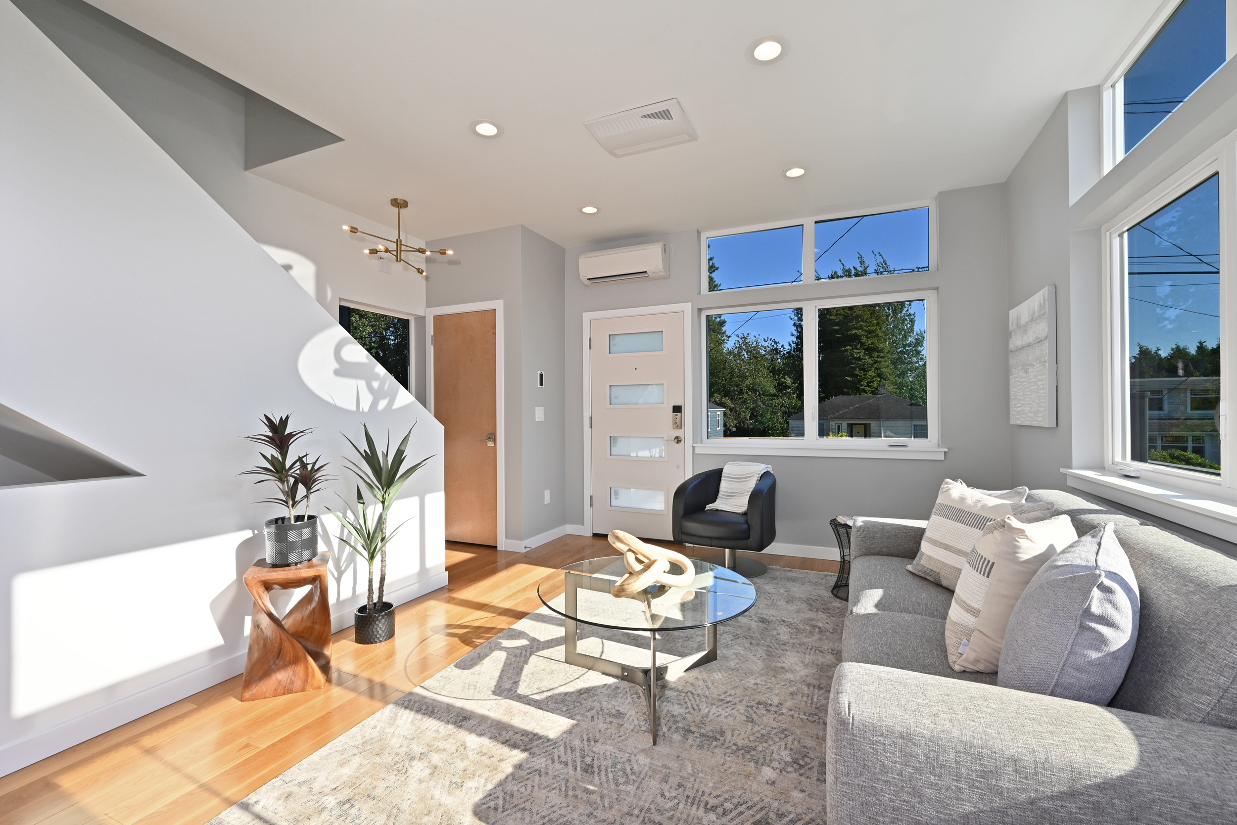
[[[503,306],[505,494],[508,542],[564,523],[563,481],[563,247],[527,226],[503,226],[429,242],[450,257],[428,262],[427,306],[479,301]],[[546,372],[546,388],[534,386]],[[546,407],[546,421],[533,408]],[[550,503],[544,503],[544,490]]]

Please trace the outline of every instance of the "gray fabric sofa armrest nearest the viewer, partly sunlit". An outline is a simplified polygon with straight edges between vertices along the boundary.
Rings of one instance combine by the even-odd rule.
[[[1237,731],[873,664],[834,674],[830,825],[1220,823]]]

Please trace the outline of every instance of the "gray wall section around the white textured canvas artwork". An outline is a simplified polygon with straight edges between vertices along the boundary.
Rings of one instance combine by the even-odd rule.
[[[1007,309],[1048,284],[1056,284],[1058,425],[1009,428],[1014,482],[1033,490],[1064,486],[1060,469],[1072,466],[1069,131],[1069,105],[1063,96],[1006,182],[1009,199]]]

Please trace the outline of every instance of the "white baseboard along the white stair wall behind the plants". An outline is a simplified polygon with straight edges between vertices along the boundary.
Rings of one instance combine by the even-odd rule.
[[[443,570],[386,594],[386,600],[398,606],[445,586],[447,571]],[[345,604],[350,604],[350,601]],[[332,632],[351,627],[355,622],[355,606],[343,607],[338,613],[332,612]],[[207,664],[197,670],[168,679],[163,684],[147,688],[110,705],[88,711],[54,727],[31,733],[24,740],[6,745],[0,748],[0,777],[240,675],[245,672],[245,653],[238,653]]]

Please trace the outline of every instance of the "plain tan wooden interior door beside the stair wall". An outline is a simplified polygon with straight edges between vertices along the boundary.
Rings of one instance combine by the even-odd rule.
[[[499,544],[495,310],[434,315],[434,418],[443,424],[447,539]]]

